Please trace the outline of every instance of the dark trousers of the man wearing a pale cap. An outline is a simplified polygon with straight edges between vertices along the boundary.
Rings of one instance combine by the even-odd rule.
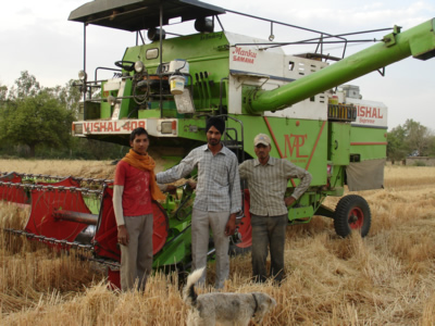
[[[270,276],[276,281],[284,277],[284,243],[287,214],[278,216],[251,215],[252,225],[252,274],[257,281],[266,279],[265,262],[268,247],[271,251]]]

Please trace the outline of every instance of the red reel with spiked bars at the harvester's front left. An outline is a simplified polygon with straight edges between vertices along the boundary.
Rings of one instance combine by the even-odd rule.
[[[4,173],[0,175],[0,199],[30,206],[23,229],[4,228],[57,250],[90,251],[88,260],[109,267],[112,286],[120,288],[121,251],[113,213],[112,180]],[[87,187],[83,187],[86,185]],[[154,254],[164,246],[169,222],[164,209],[153,202]]]

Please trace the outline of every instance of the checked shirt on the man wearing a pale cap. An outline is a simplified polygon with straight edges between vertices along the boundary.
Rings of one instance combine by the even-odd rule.
[[[248,181],[250,193],[249,212],[261,216],[277,216],[287,214],[284,202],[289,178],[299,178],[291,197],[299,197],[308,189],[311,174],[284,159],[269,158],[261,165],[258,159],[245,161],[239,165],[240,178]]]

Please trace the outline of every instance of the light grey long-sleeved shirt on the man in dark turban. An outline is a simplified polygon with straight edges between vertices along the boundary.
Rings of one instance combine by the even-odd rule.
[[[157,181],[167,184],[187,176],[198,167],[195,209],[207,212],[237,213],[241,210],[240,179],[236,155],[225,146],[215,155],[208,145],[188,153],[178,165],[158,173]]]

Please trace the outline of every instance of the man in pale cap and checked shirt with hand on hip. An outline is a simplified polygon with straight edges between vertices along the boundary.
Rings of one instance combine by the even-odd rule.
[[[253,140],[258,159],[239,165],[240,178],[248,181],[252,225],[252,274],[265,281],[268,247],[271,251],[271,277],[281,283],[284,277],[284,243],[288,209],[308,189],[311,174],[285,159],[271,158],[271,138],[259,134]],[[289,178],[300,183],[285,198]]]

